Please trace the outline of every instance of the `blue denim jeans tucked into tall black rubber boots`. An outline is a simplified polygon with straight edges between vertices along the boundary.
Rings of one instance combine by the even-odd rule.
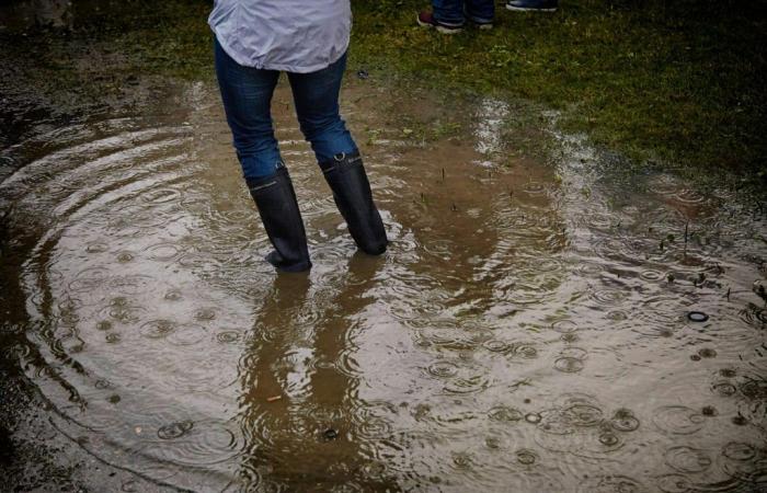
[[[218,41],[215,56],[224,110],[242,174],[245,180],[270,176],[282,163],[271,112],[279,71],[241,66],[227,55]],[[339,92],[345,69],[344,54],[317,72],[288,73],[301,133],[319,162],[357,150],[339,114]]]

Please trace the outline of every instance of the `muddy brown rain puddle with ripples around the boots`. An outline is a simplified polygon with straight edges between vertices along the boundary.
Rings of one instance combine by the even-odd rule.
[[[213,84],[0,152],[26,320],[1,349],[59,433],[195,491],[767,489],[754,204],[557,133],[519,157],[502,101],[350,79],[392,241],[355,254],[283,81],[308,276],[262,260]]]

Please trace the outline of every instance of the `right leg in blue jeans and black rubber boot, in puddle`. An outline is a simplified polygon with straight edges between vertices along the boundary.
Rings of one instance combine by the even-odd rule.
[[[345,69],[344,54],[323,70],[288,73],[288,79],[301,131],[311,144],[352,238],[360,250],[377,255],[386,251],[384,222],[373,202],[357,146],[339,113]]]

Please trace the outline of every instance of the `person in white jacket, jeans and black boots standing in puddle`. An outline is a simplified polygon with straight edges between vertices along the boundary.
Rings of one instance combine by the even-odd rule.
[[[272,125],[272,94],[283,71],[301,133],[352,238],[368,254],[384,253],[384,222],[359,150],[339,114],[350,0],[216,0],[208,24],[237,157],[274,246],[266,261],[285,272],[311,268],[304,221]]]

